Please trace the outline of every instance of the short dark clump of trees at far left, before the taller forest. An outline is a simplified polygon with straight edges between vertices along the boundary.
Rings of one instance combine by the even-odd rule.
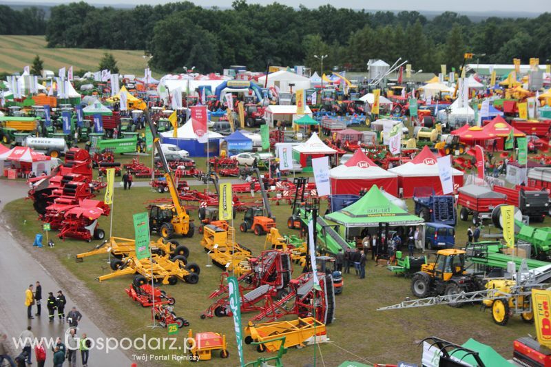
[[[0,5],[0,34],[44,34],[45,12],[37,7],[14,10]]]

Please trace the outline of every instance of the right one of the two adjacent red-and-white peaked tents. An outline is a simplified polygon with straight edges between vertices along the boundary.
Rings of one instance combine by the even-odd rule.
[[[442,185],[437,165],[437,156],[427,145],[410,162],[388,169],[398,175],[398,186],[402,197],[413,197],[415,187],[432,187],[436,195],[442,195]],[[463,186],[463,172],[452,168],[454,187]]]

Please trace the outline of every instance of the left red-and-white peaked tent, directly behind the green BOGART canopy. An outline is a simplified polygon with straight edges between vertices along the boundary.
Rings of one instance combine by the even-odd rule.
[[[331,193],[350,193],[357,195],[361,189],[373,185],[384,188],[396,196],[398,192],[398,176],[375,165],[362,149],[355,151],[344,165],[329,170]]]

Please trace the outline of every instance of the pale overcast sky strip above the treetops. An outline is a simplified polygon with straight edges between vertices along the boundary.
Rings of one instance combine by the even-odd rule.
[[[76,1],[76,0],[72,0]],[[52,3],[70,3],[71,0],[51,1]],[[105,4],[111,3],[125,5],[136,5],[138,3],[169,3],[174,1],[163,0],[85,0],[87,3]],[[249,3],[268,4],[273,3],[275,0],[249,0]],[[0,1],[3,2],[3,1]],[[46,0],[45,3],[50,3]],[[201,0],[192,1],[201,6],[219,6],[230,7],[232,0]],[[317,8],[320,5],[326,3],[335,6],[335,8],[353,8],[353,9],[367,9],[367,10],[417,10],[417,11],[435,11],[444,12],[446,10],[453,12],[492,12],[498,10],[499,12],[510,13],[519,12],[519,17],[522,17],[522,12],[551,12],[550,0],[462,0],[462,1],[442,1],[442,0],[393,0],[393,1],[380,1],[380,0],[277,0],[279,3],[283,3],[288,6],[298,7],[300,4],[307,8]],[[39,3],[37,0],[20,0],[17,3]]]

